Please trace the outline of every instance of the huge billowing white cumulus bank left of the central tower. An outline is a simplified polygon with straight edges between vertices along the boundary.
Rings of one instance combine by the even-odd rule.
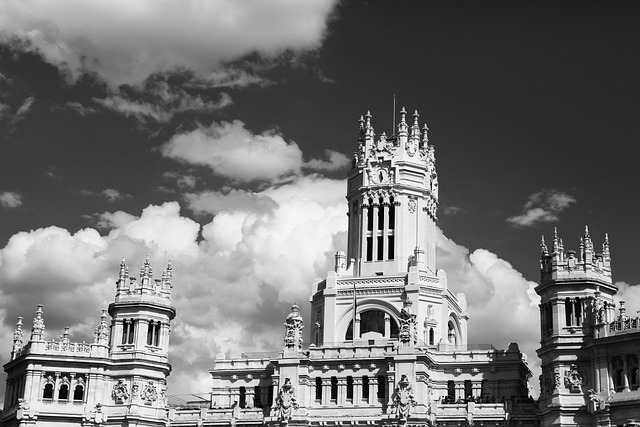
[[[6,314],[0,346],[10,347],[16,316],[30,319],[40,303],[48,339],[64,326],[71,326],[74,340],[90,339],[113,298],[120,259],[136,271],[149,254],[155,271],[168,260],[174,268],[179,315],[172,326],[171,392],[206,391],[212,354],[279,346],[289,307],[304,306],[314,278],[326,274],[344,246],[344,188],[344,181],[311,176],[245,200],[234,191],[213,198],[193,193],[190,206],[217,212],[204,225],[170,202],[139,215],[97,214],[106,235],[57,227],[18,233],[0,249],[0,315]],[[201,375],[189,378],[194,371]]]

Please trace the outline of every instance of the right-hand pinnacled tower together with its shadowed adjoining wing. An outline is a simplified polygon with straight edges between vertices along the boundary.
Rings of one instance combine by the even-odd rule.
[[[609,238],[579,251],[553,233],[541,243],[540,420],[543,426],[623,426],[640,421],[640,318],[615,312]],[[637,421],[636,421],[637,420]]]

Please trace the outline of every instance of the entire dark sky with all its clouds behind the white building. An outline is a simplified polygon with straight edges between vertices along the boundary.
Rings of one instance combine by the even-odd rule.
[[[470,343],[518,342],[537,393],[553,227],[608,233],[640,309],[636,2],[2,0],[0,29],[1,364],[37,304],[47,339],[89,341],[147,254],[174,270],[170,394],[280,348],[345,249],[357,120],[392,133],[394,96],[436,147]]]

